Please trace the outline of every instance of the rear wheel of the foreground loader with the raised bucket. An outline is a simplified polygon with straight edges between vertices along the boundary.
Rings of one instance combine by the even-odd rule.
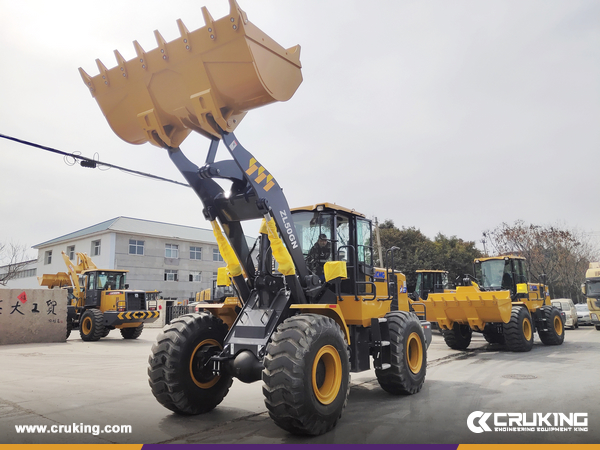
[[[375,369],[377,381],[390,394],[416,394],[427,372],[427,345],[419,319],[406,311],[385,315],[390,335],[391,367]]]

